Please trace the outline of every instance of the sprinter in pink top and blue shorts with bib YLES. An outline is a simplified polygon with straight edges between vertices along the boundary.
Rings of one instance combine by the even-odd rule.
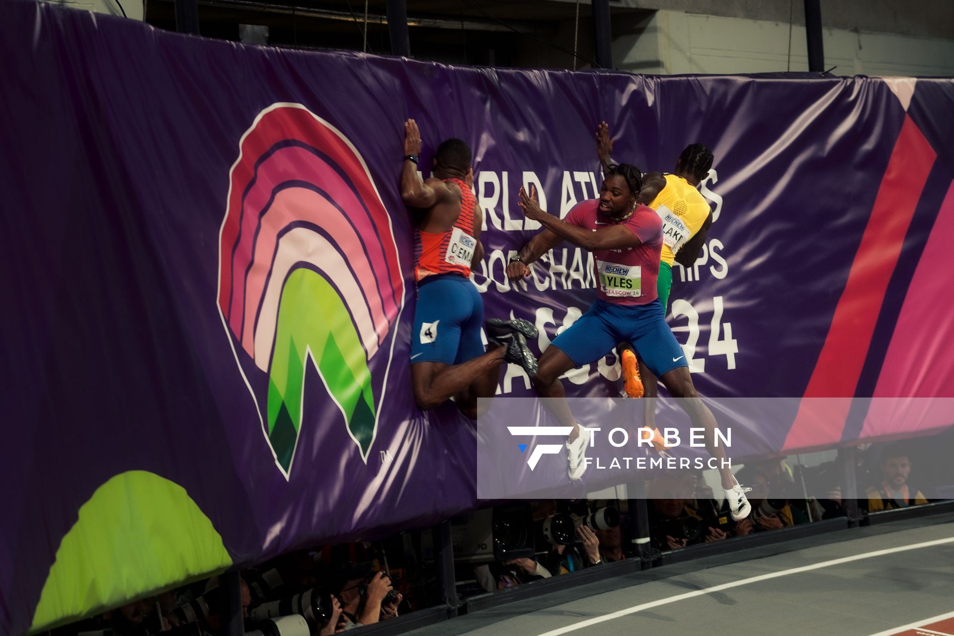
[[[686,356],[673,336],[656,292],[662,221],[653,210],[637,203],[642,189],[639,170],[627,164],[613,167],[603,180],[598,199],[576,205],[565,221],[540,209],[536,192],[520,189],[520,209],[539,221],[544,230],[533,236],[508,263],[510,279],[529,276],[529,264],[561,241],[593,254],[597,298],[585,315],[553,340],[541,356],[533,386],[544,405],[563,426],[572,428],[567,440],[570,480],[587,469],[586,449],[590,431],[580,426],[565,400],[559,378],[570,369],[602,359],[618,342],[632,342],[639,357],[662,381],[695,427],[705,429],[706,445],[716,460],[725,451],[716,445],[716,418],[695,392]],[[752,509],[728,462],[718,462],[722,488],[733,519]]]

